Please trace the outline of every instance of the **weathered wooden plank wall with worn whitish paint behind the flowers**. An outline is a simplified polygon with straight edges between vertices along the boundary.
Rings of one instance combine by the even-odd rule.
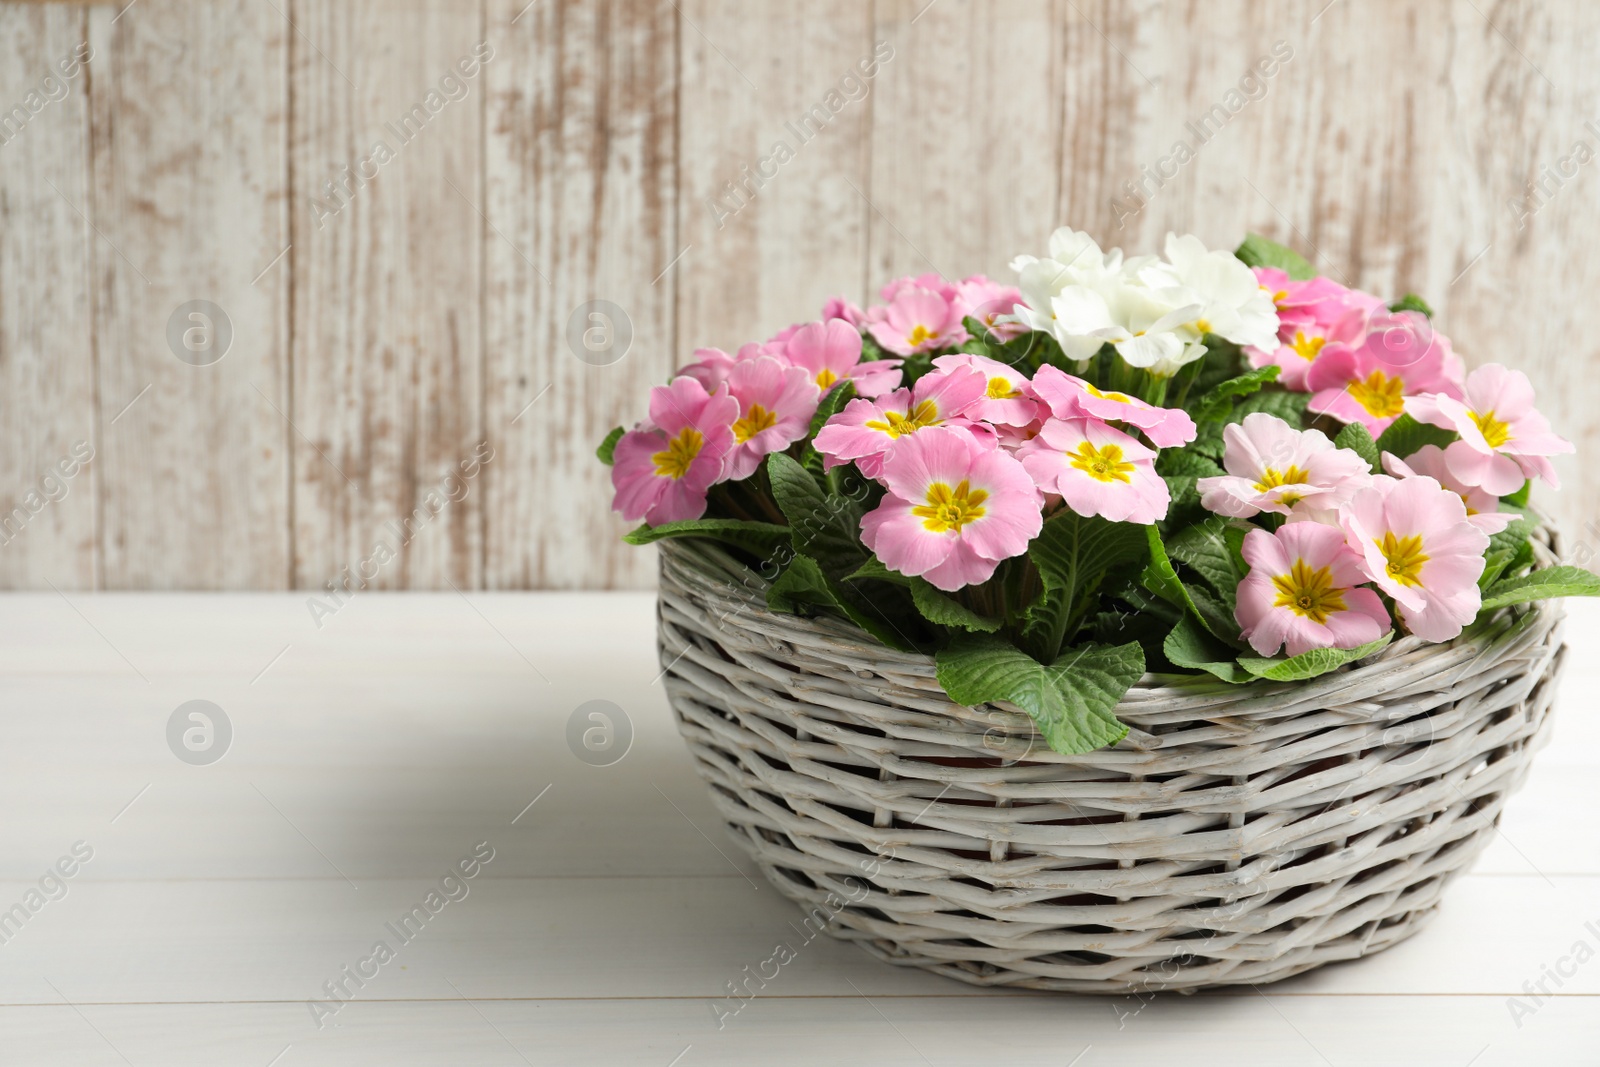
[[[650,384],[1062,222],[1422,293],[1595,454],[1597,43],[1578,0],[0,3],[0,587],[648,585],[592,446]],[[592,301],[626,354],[573,350]]]

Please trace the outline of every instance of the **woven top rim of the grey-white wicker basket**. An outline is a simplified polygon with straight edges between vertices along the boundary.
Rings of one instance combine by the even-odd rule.
[[[1558,544],[1560,531],[1549,520],[1544,520],[1533,536],[1536,569],[1552,566],[1557,561]],[[842,657],[848,656],[851,661],[878,664],[898,677],[920,678],[931,688],[938,688],[933,656],[888,648],[845,619],[768,611],[766,589],[771,582],[736,558],[722,544],[702,537],[667,537],[659,541],[658,547],[662,552],[662,566],[677,561],[680,565],[677,569],[699,574],[702,581],[696,584],[701,585],[701,592],[707,597],[720,597],[739,613],[749,611],[754,617],[760,619],[763,630],[779,635],[824,637],[838,649]],[[730,577],[738,576],[739,584],[714,584],[706,577],[707,565]],[[1299,709],[1325,707],[1328,704],[1354,707],[1362,707],[1363,704],[1376,705],[1381,696],[1392,689],[1398,680],[1451,670],[1458,678],[1467,677],[1474,665],[1483,665],[1485,657],[1494,662],[1506,654],[1518,651],[1525,643],[1518,641],[1518,637],[1526,635],[1531,629],[1544,629],[1534,627],[1534,622],[1544,621],[1554,624],[1563,616],[1565,608],[1560,600],[1538,600],[1517,605],[1515,608],[1501,608],[1477,632],[1469,629],[1469,632],[1450,641],[1426,641],[1416,635],[1406,635],[1390,641],[1371,656],[1301,681],[1256,678],[1246,683],[1230,683],[1203,673],[1174,675],[1146,672],[1122,697],[1117,712],[1122,715],[1123,712],[1141,710],[1142,705],[1165,707],[1174,701],[1182,701],[1205,718],[1214,715],[1232,718],[1251,712],[1272,712],[1272,717],[1277,718]],[[994,705],[1021,713],[1021,709],[1011,709],[1005,701],[995,701]]]

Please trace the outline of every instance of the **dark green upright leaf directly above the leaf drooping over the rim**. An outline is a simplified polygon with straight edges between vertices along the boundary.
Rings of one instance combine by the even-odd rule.
[[[1072,622],[1086,616],[1090,593],[1106,573],[1144,558],[1144,528],[1062,509],[1045,520],[1027,553],[1043,590],[1026,611],[1024,640],[1042,659],[1053,659],[1072,637]]]

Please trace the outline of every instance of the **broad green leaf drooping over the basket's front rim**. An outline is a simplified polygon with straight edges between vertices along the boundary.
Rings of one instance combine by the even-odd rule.
[[[1066,755],[1093,752],[1128,734],[1114,709],[1142,673],[1138,641],[1069,648],[1046,667],[1005,638],[974,633],[936,656],[936,677],[952,701],[968,707],[1010,701]]]

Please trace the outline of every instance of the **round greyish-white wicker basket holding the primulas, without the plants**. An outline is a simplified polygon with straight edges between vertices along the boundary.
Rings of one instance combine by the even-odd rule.
[[[1541,563],[1552,545],[1536,542]],[[730,832],[811,929],[979,985],[1272,982],[1419,929],[1547,737],[1558,601],[1306,683],[1147,675],[1112,749],[952,704],[926,656],[662,544],[661,662]]]

